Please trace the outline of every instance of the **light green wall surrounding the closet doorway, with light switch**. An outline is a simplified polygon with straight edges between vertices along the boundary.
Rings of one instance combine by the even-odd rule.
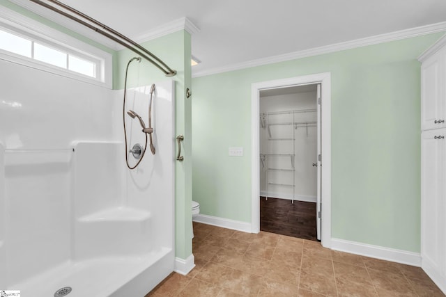
[[[197,77],[193,200],[251,222],[251,84],[331,72],[332,237],[420,252],[420,63],[443,33]],[[244,147],[229,157],[228,147]]]

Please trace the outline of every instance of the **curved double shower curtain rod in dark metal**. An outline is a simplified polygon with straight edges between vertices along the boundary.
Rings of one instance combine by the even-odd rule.
[[[138,45],[136,42],[134,42],[130,38],[115,31],[114,29],[112,29],[108,26],[105,26],[105,24],[98,22],[97,20],[93,19],[92,17],[89,17],[88,15],[81,13],[79,10],[76,10],[75,8],[72,8],[71,6],[68,6],[64,3],[61,3],[60,1],[57,1],[57,0],[48,0],[49,2],[52,2],[58,6],[61,6],[62,8],[70,11],[71,13],[74,13],[75,15],[78,15],[79,17],[83,17],[84,19],[95,24],[96,26],[100,26],[103,30],[96,26],[93,26],[92,24],[89,24],[88,22],[85,22],[82,19],[75,17],[74,15],[70,15],[69,13],[66,13],[63,10],[59,10],[58,8],[55,8],[54,6],[51,6],[48,3],[45,3],[43,1],[40,1],[40,0],[30,0],[30,1],[37,3],[38,5],[48,8],[50,10],[53,10],[54,12],[59,13],[60,15],[63,15],[64,17],[68,17],[69,19],[72,19],[73,21],[78,22],[79,24],[82,24],[89,29],[96,31],[96,32],[100,33],[101,35],[104,35],[105,37],[107,37],[111,40],[114,40],[115,42],[118,42],[120,45],[127,47],[134,53],[138,54],[142,58],[145,58],[147,61],[149,61],[150,63],[155,65],[158,69],[160,69],[162,72],[164,72],[164,74],[166,74],[166,77],[173,77],[174,75],[176,75],[176,70],[172,70],[169,66],[166,65],[166,63],[164,63],[160,58],[158,58],[157,56],[152,54],[146,48],[142,47],[141,45]],[[108,31],[108,32],[106,32],[106,31]],[[118,38],[116,38],[114,35],[112,35],[110,33],[118,36]]]

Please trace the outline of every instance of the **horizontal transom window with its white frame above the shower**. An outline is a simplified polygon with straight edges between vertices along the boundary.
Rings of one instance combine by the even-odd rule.
[[[0,5],[0,60],[112,88],[114,44],[91,40],[81,41]]]

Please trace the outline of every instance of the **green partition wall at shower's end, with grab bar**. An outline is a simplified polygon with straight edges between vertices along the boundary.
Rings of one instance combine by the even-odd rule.
[[[138,73],[129,70],[128,88],[145,86],[153,81],[174,79],[176,100],[176,135],[183,134],[182,144],[184,161],[175,163],[176,179],[176,257],[186,259],[192,254],[192,102],[186,99],[185,90],[191,86],[191,36],[187,31],[177,31],[155,40],[141,44],[158,56],[169,67],[177,71],[174,77],[165,77],[164,73],[147,61],[143,63]],[[114,88],[124,88],[125,67],[130,58],[136,56],[132,51],[118,51],[114,62]],[[135,69],[135,68],[134,68]],[[130,79],[133,77],[133,79]],[[160,226],[162,227],[162,226]]]

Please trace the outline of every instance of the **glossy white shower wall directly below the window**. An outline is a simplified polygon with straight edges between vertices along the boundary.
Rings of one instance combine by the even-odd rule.
[[[8,271],[0,284],[6,288],[70,258],[72,142],[116,140],[112,122],[121,101],[107,88],[31,67],[0,60],[0,69],[0,217],[7,226],[0,227],[0,266]]]

